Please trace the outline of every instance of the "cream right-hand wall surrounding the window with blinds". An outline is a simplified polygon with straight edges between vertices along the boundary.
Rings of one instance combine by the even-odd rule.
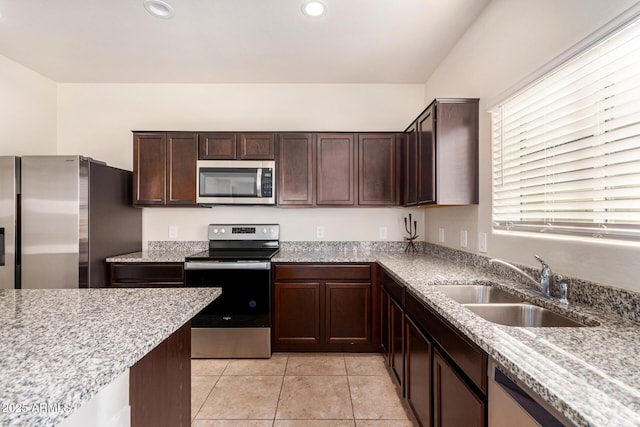
[[[434,97],[480,98],[480,204],[427,209],[427,241],[459,246],[468,230],[471,252],[477,233],[488,234],[488,255],[539,265],[539,254],[554,271],[640,291],[638,245],[570,242],[559,238],[491,234],[490,117],[487,103],[635,4],[633,0],[493,0],[425,85],[425,102]]]

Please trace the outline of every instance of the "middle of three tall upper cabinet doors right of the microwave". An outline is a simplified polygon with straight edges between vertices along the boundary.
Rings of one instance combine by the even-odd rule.
[[[318,134],[316,205],[353,205],[353,135]]]

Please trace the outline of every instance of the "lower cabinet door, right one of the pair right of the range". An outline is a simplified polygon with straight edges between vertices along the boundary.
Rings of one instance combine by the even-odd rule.
[[[371,343],[371,283],[325,283],[328,344]]]

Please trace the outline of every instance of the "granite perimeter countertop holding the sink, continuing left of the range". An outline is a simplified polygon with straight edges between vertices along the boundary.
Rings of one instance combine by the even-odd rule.
[[[193,251],[139,252],[120,262],[181,262]],[[533,288],[486,268],[433,255],[362,248],[281,250],[272,262],[378,262],[395,280],[485,350],[551,406],[580,426],[640,425],[640,326],[572,303],[562,307]],[[488,322],[438,291],[443,284],[491,284],[589,325],[519,328]],[[570,299],[572,289],[570,288]]]

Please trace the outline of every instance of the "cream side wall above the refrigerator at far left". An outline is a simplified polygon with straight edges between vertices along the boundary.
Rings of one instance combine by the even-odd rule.
[[[0,155],[56,153],[56,84],[0,55]]]

